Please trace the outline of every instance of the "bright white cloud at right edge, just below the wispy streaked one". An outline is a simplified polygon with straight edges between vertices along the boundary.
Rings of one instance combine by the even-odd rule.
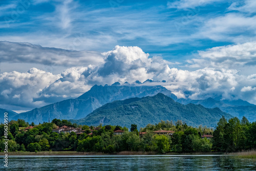
[[[198,58],[189,59],[189,67],[225,68],[253,74],[256,66],[256,41],[244,44],[214,47],[198,51]],[[250,70],[248,70],[250,68]]]

